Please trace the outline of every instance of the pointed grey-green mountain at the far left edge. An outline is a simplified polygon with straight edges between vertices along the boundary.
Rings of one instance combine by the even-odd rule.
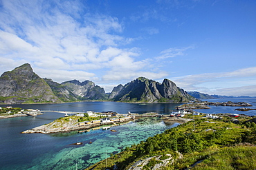
[[[0,77],[0,103],[58,103],[51,87],[26,63]]]

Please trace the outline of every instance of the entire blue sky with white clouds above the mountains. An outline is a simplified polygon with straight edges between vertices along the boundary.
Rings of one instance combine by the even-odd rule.
[[[0,0],[0,72],[256,96],[256,1]]]

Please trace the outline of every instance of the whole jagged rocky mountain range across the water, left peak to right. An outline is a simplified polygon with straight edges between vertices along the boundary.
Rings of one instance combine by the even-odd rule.
[[[127,103],[186,103],[193,97],[165,79],[158,83],[144,77],[118,85],[110,94],[92,81],[57,83],[41,78],[26,63],[0,77],[0,103],[64,103],[82,100],[111,100]]]

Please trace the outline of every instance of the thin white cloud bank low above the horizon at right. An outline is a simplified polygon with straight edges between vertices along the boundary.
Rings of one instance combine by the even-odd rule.
[[[186,91],[228,96],[255,96],[256,67],[248,67],[232,72],[174,77],[172,80]],[[248,89],[246,89],[247,87]]]

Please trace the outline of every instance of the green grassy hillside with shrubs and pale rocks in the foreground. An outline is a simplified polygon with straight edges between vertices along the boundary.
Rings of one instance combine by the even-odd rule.
[[[187,115],[194,121],[123,149],[87,169],[256,169],[256,124]],[[232,123],[235,122],[235,123]]]

